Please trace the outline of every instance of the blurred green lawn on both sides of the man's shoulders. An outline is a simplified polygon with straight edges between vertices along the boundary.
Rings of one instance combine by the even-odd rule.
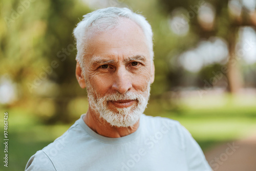
[[[239,100],[230,100],[229,97],[221,100],[211,98],[208,101],[194,98],[179,101],[175,108],[166,108],[161,105],[162,101],[152,100],[145,113],[178,120],[193,135],[203,151],[207,151],[220,143],[253,134],[253,130],[256,130],[256,105],[248,104],[256,104],[256,100],[249,100],[248,103],[237,104]],[[6,111],[9,113],[9,167],[2,169],[1,165],[0,170],[24,170],[27,161],[36,151],[62,135],[73,124],[44,125],[28,110],[19,108]],[[0,112],[1,118],[4,118],[4,111]]]

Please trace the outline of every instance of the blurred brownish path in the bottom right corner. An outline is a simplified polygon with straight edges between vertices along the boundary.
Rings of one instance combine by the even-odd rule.
[[[205,157],[215,171],[256,171],[256,134],[212,148]]]

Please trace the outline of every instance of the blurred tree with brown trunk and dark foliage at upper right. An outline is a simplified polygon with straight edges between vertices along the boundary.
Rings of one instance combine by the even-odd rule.
[[[238,92],[242,87],[242,74],[236,54],[238,30],[243,26],[256,26],[255,9],[250,11],[241,0],[161,0],[160,3],[163,9],[169,13],[180,8],[186,9],[182,17],[189,24],[191,32],[194,32],[198,38],[208,39],[211,36],[220,36],[226,40],[229,49],[227,62],[228,90],[231,93]],[[202,6],[206,7],[206,10],[211,9],[214,12],[212,22],[210,22],[211,17],[207,15],[207,12],[201,13],[201,16],[199,15],[202,12],[200,11]],[[182,28],[186,22],[181,18],[180,23],[177,23],[176,26]]]

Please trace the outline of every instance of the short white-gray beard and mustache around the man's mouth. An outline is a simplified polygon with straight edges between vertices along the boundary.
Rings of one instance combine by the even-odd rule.
[[[148,82],[146,89],[139,93],[126,92],[125,94],[121,94],[116,92],[107,94],[101,98],[98,98],[98,94],[94,91],[89,81],[86,84],[90,107],[98,112],[100,117],[112,126],[129,127],[137,123],[141,114],[145,111],[150,97],[150,82]],[[111,110],[108,107],[108,101],[118,100],[136,100],[138,103],[127,108],[115,108],[115,110]]]

